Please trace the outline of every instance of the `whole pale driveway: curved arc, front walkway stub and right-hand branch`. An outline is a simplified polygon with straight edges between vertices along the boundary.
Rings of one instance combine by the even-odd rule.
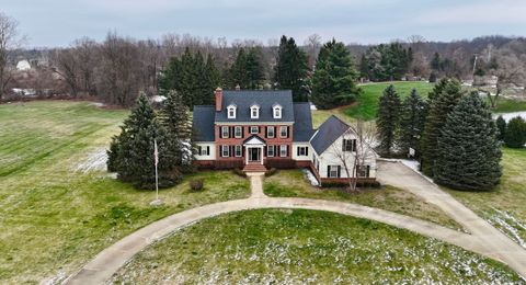
[[[409,181],[407,183],[415,182],[416,186],[409,189],[410,191],[418,195],[425,196],[430,200],[441,201],[438,203],[436,201],[428,202],[434,203],[441,207],[443,206],[443,204],[444,206],[446,206],[446,208],[449,207],[448,209],[445,209],[448,214],[464,207],[460,203],[455,203],[456,201],[450,196],[449,198],[441,197],[442,195],[447,194],[442,192],[434,184],[425,181],[420,176],[416,176],[414,172],[407,172],[397,163],[381,163],[379,171],[381,175],[386,175],[385,178],[382,178],[382,181],[392,182],[391,180],[408,179]],[[395,179],[397,175],[399,175],[398,179]],[[517,244],[515,244],[514,247],[513,241],[508,240],[506,237],[502,238],[503,235],[491,226],[477,226],[478,224],[485,221],[478,218],[472,212],[470,212],[466,207],[464,207],[465,210],[462,210],[466,213],[455,214],[454,218],[457,219],[460,218],[462,215],[467,214],[466,217],[468,217],[470,221],[458,221],[464,225],[468,230],[470,230],[470,232],[472,232],[473,235],[464,233],[438,226],[433,223],[396,214],[392,212],[351,203],[309,198],[266,197],[263,193],[262,187],[263,175],[250,175],[249,179],[251,181],[252,190],[251,197],[245,200],[221,202],[188,209],[152,223],[100,252],[77,274],[72,275],[69,280],[67,280],[66,283],[102,284],[105,281],[110,280],[113,273],[115,273],[119,267],[122,267],[137,252],[178,229],[181,229],[201,219],[210,218],[217,215],[258,208],[304,208],[313,210],[327,210],[385,223],[398,228],[408,229],[427,237],[444,240],[446,242],[462,247],[467,250],[503,261],[507,263],[511,267],[519,272],[523,276],[526,276],[526,260],[524,259],[524,250],[522,250]],[[427,184],[423,183],[420,180],[425,181]],[[407,187],[407,185],[400,185],[398,184],[398,182],[390,184],[400,187]],[[432,194],[423,193],[428,192],[428,189],[433,189],[431,192]],[[490,228],[492,228],[493,230],[491,230]],[[482,236],[477,236],[479,233]],[[495,242],[495,244],[491,244],[491,242]],[[512,252],[513,250],[515,252]]]

